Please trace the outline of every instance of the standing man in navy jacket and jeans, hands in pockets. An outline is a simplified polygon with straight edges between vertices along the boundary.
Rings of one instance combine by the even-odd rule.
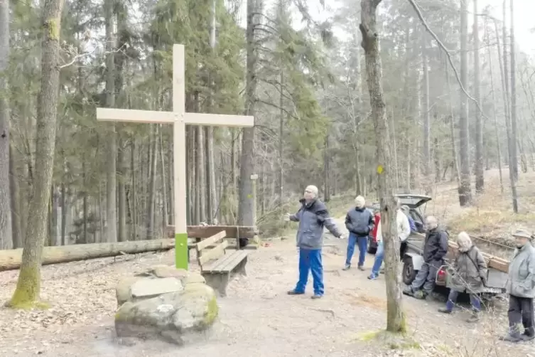
[[[350,231],[350,237],[347,241],[347,255],[345,257],[345,267],[348,270],[351,267],[351,258],[355,252],[355,245],[359,246],[359,270],[364,270],[364,259],[368,247],[368,235],[374,229],[374,216],[367,208],[364,207],[366,201],[364,197],[355,198],[355,208],[350,209],[345,216],[345,228]]]

